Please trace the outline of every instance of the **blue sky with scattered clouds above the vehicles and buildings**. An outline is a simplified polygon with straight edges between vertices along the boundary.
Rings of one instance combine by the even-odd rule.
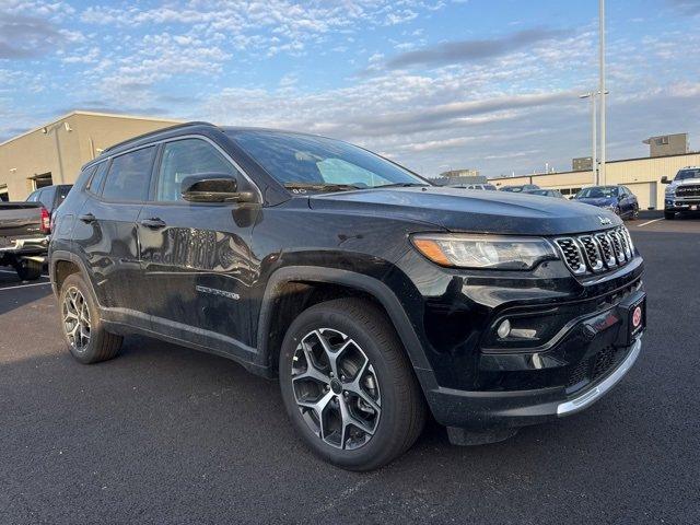
[[[597,1],[0,0],[0,140],[71,109],[342,138],[432,176],[590,152]],[[608,0],[608,158],[700,149],[700,0]]]

